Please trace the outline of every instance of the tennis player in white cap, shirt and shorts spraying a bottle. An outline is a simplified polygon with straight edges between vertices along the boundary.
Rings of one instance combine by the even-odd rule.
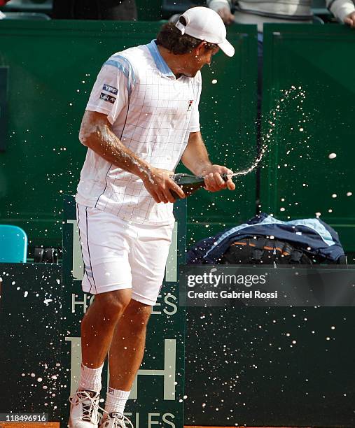
[[[211,192],[228,187],[200,134],[200,69],[220,48],[232,57],[221,17],[191,8],[157,40],[112,55],[102,66],[83,117],[88,147],[76,195],[85,275],[95,294],[81,324],[81,380],[70,398],[71,428],[126,427],[123,416],[144,355],[146,325],[165,273],[175,201],[170,178],[182,160]],[[99,393],[109,353],[102,420]]]

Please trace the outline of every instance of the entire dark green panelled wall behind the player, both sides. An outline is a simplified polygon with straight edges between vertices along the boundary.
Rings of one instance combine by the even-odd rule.
[[[29,245],[61,245],[62,194],[76,192],[85,157],[78,129],[102,63],[151,41],[159,28],[159,22],[1,22],[8,101],[1,113],[7,149],[0,152],[0,222],[23,227]],[[219,52],[203,69],[200,115],[212,161],[238,170],[256,154],[256,27],[235,25],[228,38],[236,55]],[[354,31],[337,24],[265,28],[264,135],[270,117],[275,126],[261,170],[261,209],[284,220],[321,213],[348,251],[355,250],[354,196],[347,196],[354,193],[354,43]],[[332,152],[337,157],[328,159]],[[233,193],[201,190],[188,199],[188,245],[254,215],[256,174],[235,183]]]

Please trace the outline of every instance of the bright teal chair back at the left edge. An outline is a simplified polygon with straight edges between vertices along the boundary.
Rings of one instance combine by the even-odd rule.
[[[0,263],[26,263],[27,235],[24,230],[0,224]]]

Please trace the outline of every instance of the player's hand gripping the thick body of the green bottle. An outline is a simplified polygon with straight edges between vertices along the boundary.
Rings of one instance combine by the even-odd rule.
[[[173,171],[151,166],[141,177],[144,187],[158,204],[176,201],[170,190],[178,194],[181,199],[186,197],[181,187],[172,180],[172,175],[174,175]]]

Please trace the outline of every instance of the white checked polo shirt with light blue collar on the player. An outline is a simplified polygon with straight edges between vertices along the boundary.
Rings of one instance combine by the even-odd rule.
[[[102,66],[87,110],[107,115],[120,141],[149,164],[174,171],[190,132],[200,131],[201,73],[176,79],[155,41],[118,52]],[[95,206],[137,223],[172,222],[173,204],[157,204],[132,173],[88,148],[76,194]]]

